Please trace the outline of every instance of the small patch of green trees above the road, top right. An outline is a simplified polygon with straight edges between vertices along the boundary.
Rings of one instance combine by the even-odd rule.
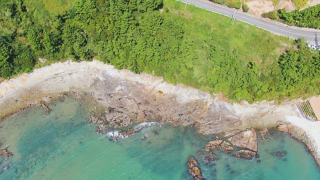
[[[303,10],[293,10],[286,12],[285,9],[274,10],[262,14],[274,20],[279,20],[289,25],[299,27],[320,28],[320,4],[305,8]]]

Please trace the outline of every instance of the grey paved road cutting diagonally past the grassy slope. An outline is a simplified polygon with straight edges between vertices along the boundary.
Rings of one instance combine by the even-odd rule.
[[[184,2],[186,0],[178,0],[181,2]],[[187,0],[188,4],[193,4],[197,7],[204,8],[207,10],[210,10],[212,12],[216,12],[228,17],[232,17],[232,14],[235,9],[227,8],[225,6],[215,4],[213,2],[210,2],[208,0]],[[299,27],[290,27],[288,25],[274,22],[272,20],[267,19],[259,19],[257,17],[253,17],[247,13],[243,13],[240,11],[236,11],[234,13],[236,20],[243,21],[245,23],[249,23],[252,25],[255,25],[257,27],[263,28],[265,30],[268,30],[270,32],[291,37],[291,38],[298,38],[298,37],[304,37],[308,42],[314,43],[314,37],[315,33],[317,33],[318,37],[320,37],[320,30],[318,29],[308,29],[308,28],[299,28]],[[212,19],[214,20],[214,19]],[[230,19],[231,22],[231,19]],[[319,38],[320,40],[320,38]]]

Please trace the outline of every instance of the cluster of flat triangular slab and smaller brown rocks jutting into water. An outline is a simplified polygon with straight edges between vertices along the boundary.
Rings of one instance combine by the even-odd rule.
[[[216,139],[206,143],[204,150],[211,152],[212,150],[223,149],[225,153],[230,153],[234,147],[240,148],[236,150],[237,159],[252,159],[257,157],[257,135],[253,128],[240,131],[226,140]],[[212,152],[211,152],[212,153]],[[208,156],[205,160],[208,161]]]

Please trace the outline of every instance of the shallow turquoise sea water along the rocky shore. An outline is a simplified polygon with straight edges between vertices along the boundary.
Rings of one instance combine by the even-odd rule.
[[[0,157],[0,179],[190,179],[186,161],[193,155],[207,179],[320,179],[320,171],[303,144],[275,133],[259,139],[260,163],[216,152],[204,165],[197,150],[215,135],[204,136],[191,127],[154,125],[126,139],[110,141],[87,123],[90,109],[66,99],[49,105],[44,114],[30,108],[0,122],[2,147],[14,155]],[[147,139],[141,137],[147,135]],[[287,155],[277,157],[277,151]],[[8,170],[1,170],[8,163]]]

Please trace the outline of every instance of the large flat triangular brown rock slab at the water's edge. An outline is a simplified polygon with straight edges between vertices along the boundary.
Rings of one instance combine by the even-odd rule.
[[[258,144],[257,144],[257,136],[256,132],[253,128],[249,130],[241,131],[231,137],[228,138],[228,140],[231,142],[231,144],[247,148],[252,151],[258,150]]]

